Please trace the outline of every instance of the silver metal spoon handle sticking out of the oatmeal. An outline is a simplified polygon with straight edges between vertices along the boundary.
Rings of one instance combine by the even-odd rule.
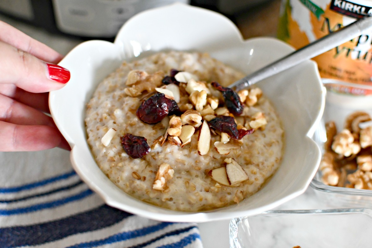
[[[285,57],[278,59],[275,62],[247,75],[246,77],[234,82],[229,87],[239,91],[249,87],[265,78],[287,70],[299,63],[314,58],[317,55],[327,52],[338,45],[354,39],[362,34],[362,32],[372,29],[372,16],[364,17],[356,22],[353,22],[342,29],[332,32],[322,38],[311,42],[310,44],[292,52]]]

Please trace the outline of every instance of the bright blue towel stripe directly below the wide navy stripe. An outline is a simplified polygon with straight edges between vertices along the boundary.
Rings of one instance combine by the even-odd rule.
[[[172,225],[172,224],[174,224],[174,223],[161,222],[161,223],[159,223],[157,225],[154,225],[154,226],[147,226],[147,227],[137,229],[137,230],[134,230],[134,231],[130,231],[130,232],[118,233],[118,234],[112,235],[112,236],[110,236],[108,238],[105,238],[105,239],[80,243],[80,244],[70,246],[68,248],[97,247],[97,246],[100,246],[100,245],[112,244],[112,243],[115,243],[115,242],[121,242],[121,241],[125,241],[125,240],[128,240],[128,239],[133,239],[133,238],[148,235],[148,234],[153,233],[153,232],[160,231],[161,229],[164,229],[167,226]]]

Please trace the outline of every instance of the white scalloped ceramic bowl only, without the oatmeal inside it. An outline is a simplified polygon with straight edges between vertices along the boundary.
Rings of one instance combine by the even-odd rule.
[[[151,219],[178,222],[255,215],[302,194],[321,158],[320,149],[310,137],[323,113],[325,97],[317,66],[310,60],[258,84],[282,119],[285,151],[275,175],[239,204],[207,212],[163,209],[134,199],[102,173],[86,141],[86,103],[97,84],[122,60],[164,50],[208,52],[247,74],[293,51],[273,38],[244,41],[226,17],[179,3],[132,17],[113,43],[87,41],[78,45],[60,62],[71,71],[71,79],[64,88],[50,93],[49,106],[55,123],[71,145],[71,162],[82,180],[110,206]]]

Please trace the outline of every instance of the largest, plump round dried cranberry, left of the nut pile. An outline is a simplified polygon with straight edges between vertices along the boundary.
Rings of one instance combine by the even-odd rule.
[[[138,118],[148,124],[160,122],[169,113],[168,100],[163,93],[154,94],[141,103],[136,113]]]

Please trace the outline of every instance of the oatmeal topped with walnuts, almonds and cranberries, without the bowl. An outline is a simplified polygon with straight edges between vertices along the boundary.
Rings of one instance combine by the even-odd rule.
[[[87,104],[100,169],[144,202],[211,210],[257,192],[279,167],[283,129],[259,88],[208,54],[167,52],[124,62]]]

